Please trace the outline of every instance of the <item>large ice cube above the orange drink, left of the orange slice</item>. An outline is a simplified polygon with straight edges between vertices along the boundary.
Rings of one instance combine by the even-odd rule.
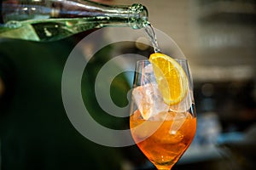
[[[167,112],[169,110],[169,105],[166,105],[157,85],[154,83],[134,88],[132,98],[145,120],[160,112]]]

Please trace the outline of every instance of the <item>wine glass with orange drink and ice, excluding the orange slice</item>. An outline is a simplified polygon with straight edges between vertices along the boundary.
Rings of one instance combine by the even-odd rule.
[[[131,136],[157,169],[171,169],[189,148],[196,131],[192,79],[186,59],[176,59],[188,79],[186,96],[166,105],[148,59],[137,61],[132,95]],[[172,93],[172,92],[171,92]]]

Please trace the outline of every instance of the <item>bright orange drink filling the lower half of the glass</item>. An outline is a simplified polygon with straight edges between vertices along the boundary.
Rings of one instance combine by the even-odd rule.
[[[183,115],[187,116],[182,120],[175,117],[174,112],[168,112],[166,120],[163,121],[143,120],[140,111],[135,111],[131,116],[130,126],[133,139],[143,154],[158,169],[161,167],[170,169],[187,150],[195,136],[195,117],[189,113],[183,113]],[[138,129],[135,128],[143,122],[147,124]],[[182,125],[178,125],[180,127],[177,131],[172,130],[177,123],[182,123]],[[152,135],[148,135],[148,129],[152,127],[157,128],[154,129],[155,132]]]

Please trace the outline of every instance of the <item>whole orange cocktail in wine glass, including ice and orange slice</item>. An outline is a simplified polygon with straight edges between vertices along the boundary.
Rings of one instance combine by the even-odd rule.
[[[170,170],[195,136],[187,60],[154,53],[138,61],[131,99],[132,138],[157,169]]]

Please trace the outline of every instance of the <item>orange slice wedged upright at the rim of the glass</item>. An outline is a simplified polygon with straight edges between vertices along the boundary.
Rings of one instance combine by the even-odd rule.
[[[160,93],[167,105],[178,104],[188,93],[188,77],[181,65],[171,57],[154,53],[149,57]]]

